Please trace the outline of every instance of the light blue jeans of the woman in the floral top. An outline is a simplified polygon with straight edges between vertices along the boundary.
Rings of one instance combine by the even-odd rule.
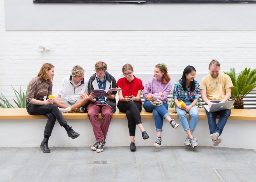
[[[184,103],[189,106],[192,102],[191,101],[184,101]],[[187,112],[185,110],[179,109],[178,107],[175,107],[175,110],[180,118],[180,123],[184,130],[195,130],[196,129],[196,124],[198,120],[198,108],[195,105],[189,110],[189,115],[190,115],[190,123],[188,125],[188,119],[187,119]]]

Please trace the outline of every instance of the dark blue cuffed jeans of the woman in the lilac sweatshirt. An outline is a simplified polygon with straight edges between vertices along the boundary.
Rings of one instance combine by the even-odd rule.
[[[156,131],[162,132],[163,131],[163,123],[164,118],[167,116],[170,116],[168,113],[168,104],[163,102],[163,105],[161,106],[154,106],[150,103],[150,101],[145,101],[143,104],[144,109],[147,112],[152,112],[154,119],[155,119],[155,125],[156,125]]]

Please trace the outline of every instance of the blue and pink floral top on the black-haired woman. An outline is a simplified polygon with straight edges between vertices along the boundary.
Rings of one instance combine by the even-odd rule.
[[[190,83],[191,84],[191,83]],[[173,99],[178,99],[179,101],[185,101],[185,100],[189,100],[189,101],[194,101],[195,99],[199,100],[199,93],[200,93],[200,85],[199,83],[195,80],[195,91],[192,92],[190,90],[190,84],[187,87],[187,90],[184,91],[182,88],[182,80],[178,80],[175,84],[174,84],[174,88],[173,88]]]

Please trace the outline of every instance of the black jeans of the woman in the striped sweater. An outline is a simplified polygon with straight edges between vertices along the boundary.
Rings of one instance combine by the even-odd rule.
[[[28,111],[28,114],[44,115],[45,117],[48,118],[44,128],[44,135],[51,136],[52,129],[54,127],[56,119],[60,123],[60,126],[63,126],[67,123],[62,113],[59,111],[58,107],[55,104],[37,105],[37,104],[27,103],[27,111]]]

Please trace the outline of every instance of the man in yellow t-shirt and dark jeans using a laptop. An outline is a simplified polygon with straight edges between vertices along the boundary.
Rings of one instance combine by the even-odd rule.
[[[227,74],[220,73],[220,63],[212,59],[209,64],[210,74],[205,76],[200,83],[201,98],[210,107],[212,104],[226,102],[231,96],[231,87],[233,83]],[[219,145],[221,142],[220,135],[230,116],[231,109],[216,112],[208,112],[208,125],[213,146]],[[218,124],[216,124],[217,115],[220,115]]]

